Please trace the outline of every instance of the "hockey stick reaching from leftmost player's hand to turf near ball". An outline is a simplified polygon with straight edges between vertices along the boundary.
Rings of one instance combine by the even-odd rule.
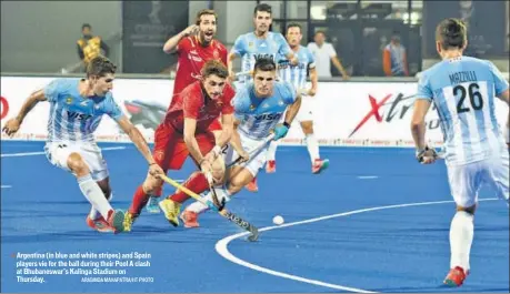
[[[179,189],[180,191],[184,192],[190,197],[197,200],[198,202],[202,203],[203,205],[207,205],[211,210],[218,212],[219,214],[221,214],[221,216],[226,217],[227,220],[229,220],[230,222],[234,223],[239,227],[250,232],[251,235],[248,236],[249,241],[253,242],[253,241],[257,241],[257,239],[259,237],[259,230],[254,225],[252,225],[249,222],[242,220],[241,217],[239,217],[238,215],[233,214],[232,212],[230,212],[230,211],[228,211],[226,209],[223,209],[222,211],[219,211],[214,206],[214,204],[212,204],[211,202],[204,201],[199,194],[197,194],[193,191],[187,189],[186,186],[179,184],[178,182],[173,181],[172,179],[168,178],[167,175],[162,174],[162,175],[160,175],[160,178],[161,178],[161,180],[163,180],[164,182],[167,182],[170,185],[174,186],[176,189]]]

